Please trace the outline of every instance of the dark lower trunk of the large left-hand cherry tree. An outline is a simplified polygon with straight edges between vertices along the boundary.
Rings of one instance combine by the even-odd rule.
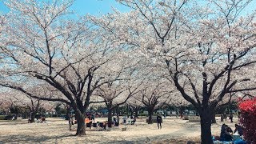
[[[78,122],[78,129],[75,135],[82,136],[86,135],[86,125],[85,125],[85,114],[81,113],[80,111],[76,110],[75,117]]]

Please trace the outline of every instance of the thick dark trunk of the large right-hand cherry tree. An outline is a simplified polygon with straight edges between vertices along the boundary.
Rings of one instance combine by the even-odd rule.
[[[210,128],[213,112],[209,108],[202,108],[199,114],[201,118],[201,143],[213,144]]]

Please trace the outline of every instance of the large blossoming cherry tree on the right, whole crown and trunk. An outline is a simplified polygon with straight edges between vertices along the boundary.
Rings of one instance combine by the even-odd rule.
[[[198,110],[202,143],[213,143],[214,108],[230,93],[255,89],[248,86],[255,82],[255,13],[245,15],[251,1],[118,2],[132,11],[98,19],[99,25],[138,47],[158,64],[158,72],[169,75]]]

